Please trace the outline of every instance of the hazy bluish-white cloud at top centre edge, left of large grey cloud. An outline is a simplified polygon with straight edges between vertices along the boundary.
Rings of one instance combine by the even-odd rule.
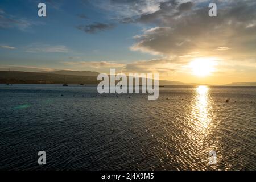
[[[152,23],[160,16],[179,15],[193,6],[192,2],[179,3],[175,0],[88,0],[92,5],[108,11],[121,23]],[[174,9],[176,8],[176,10]]]

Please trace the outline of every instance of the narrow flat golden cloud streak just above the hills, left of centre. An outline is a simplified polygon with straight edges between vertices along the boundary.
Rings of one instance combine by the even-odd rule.
[[[121,63],[113,63],[108,61],[77,61],[77,62],[64,62],[64,64],[68,65],[80,65],[82,67],[90,67],[90,68],[122,68],[125,64]]]

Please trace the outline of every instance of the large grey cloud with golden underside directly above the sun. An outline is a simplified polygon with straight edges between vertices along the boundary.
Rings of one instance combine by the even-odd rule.
[[[256,26],[252,24],[256,2],[218,1],[218,7],[217,17],[212,18],[208,16],[208,6],[196,2],[162,2],[159,10],[137,18],[137,22],[157,26],[134,36],[131,49],[153,55],[200,52],[201,56],[226,56],[221,51],[232,47],[233,56],[255,56]],[[218,53],[213,52],[216,47]]]

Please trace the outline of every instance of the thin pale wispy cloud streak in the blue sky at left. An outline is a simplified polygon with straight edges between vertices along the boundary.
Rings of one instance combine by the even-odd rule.
[[[26,52],[31,53],[67,53],[68,48],[63,45],[48,45],[48,44],[31,44],[26,47]]]

